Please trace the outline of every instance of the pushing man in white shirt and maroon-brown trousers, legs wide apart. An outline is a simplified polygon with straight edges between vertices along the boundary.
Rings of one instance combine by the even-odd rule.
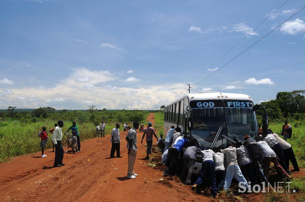
[[[280,172],[282,175],[284,175],[287,178],[291,178],[290,175],[287,174],[287,172],[282,168],[282,166],[278,163],[278,159],[276,158],[276,154],[274,151],[270,148],[270,146],[265,141],[258,141],[257,142],[258,147],[260,148],[260,153],[262,155],[262,162],[264,164],[263,171],[264,175],[269,179],[269,169],[271,162],[274,163],[274,167],[278,172]]]

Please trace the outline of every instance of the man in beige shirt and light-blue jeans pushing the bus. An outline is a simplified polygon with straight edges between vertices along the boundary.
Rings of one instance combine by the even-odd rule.
[[[236,148],[229,146],[228,148],[221,150],[221,153],[225,155],[227,162],[227,172],[224,178],[224,190],[229,190],[233,177],[238,182],[243,182],[243,186],[247,187],[249,184],[245,179],[244,175],[242,175],[242,171],[238,166]]]

